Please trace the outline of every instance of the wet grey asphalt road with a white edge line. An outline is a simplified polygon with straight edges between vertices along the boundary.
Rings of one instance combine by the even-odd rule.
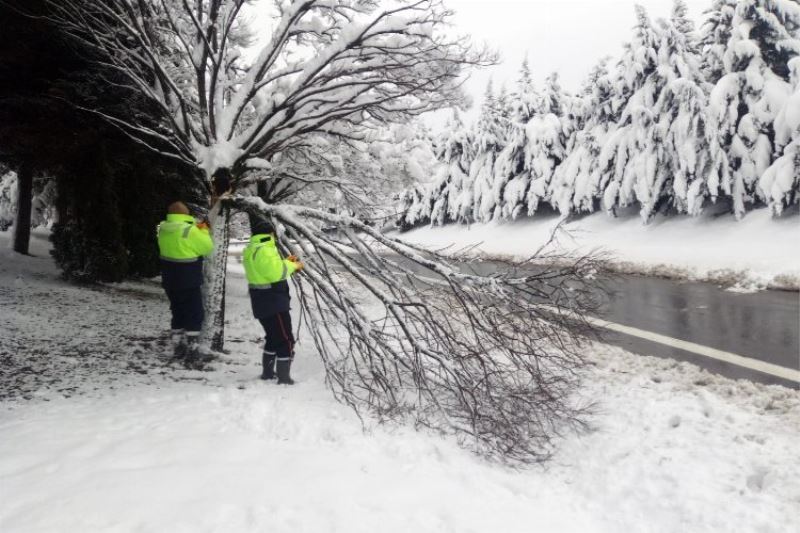
[[[479,261],[470,269],[488,274],[496,266]],[[595,323],[605,342],[734,379],[800,388],[800,293],[743,294],[634,275],[614,275],[603,286]]]

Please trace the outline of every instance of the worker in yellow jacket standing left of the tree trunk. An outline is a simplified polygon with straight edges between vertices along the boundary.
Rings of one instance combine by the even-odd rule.
[[[189,367],[199,359],[203,258],[214,249],[208,230],[208,225],[195,221],[183,202],[170,204],[167,219],[158,225],[161,284],[172,311],[174,354]]]

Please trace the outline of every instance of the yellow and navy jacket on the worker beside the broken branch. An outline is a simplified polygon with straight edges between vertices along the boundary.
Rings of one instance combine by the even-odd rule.
[[[281,257],[275,235],[261,233],[250,237],[243,263],[253,316],[261,319],[289,311],[287,280],[297,271],[297,265]]]

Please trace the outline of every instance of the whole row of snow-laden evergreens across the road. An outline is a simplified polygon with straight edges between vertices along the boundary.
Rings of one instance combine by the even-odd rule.
[[[775,173],[794,168],[787,124],[798,11],[790,0],[715,0],[698,33],[684,0],[656,25],[637,7],[634,38],[616,71],[595,68],[577,97],[563,94],[556,78],[536,93],[526,61],[506,140],[499,153],[495,142],[467,158],[472,166],[452,219],[516,218],[523,208],[533,215],[545,201],[563,215],[598,203],[611,214],[638,205],[647,222],[666,208],[699,215],[721,197],[737,217],[764,201],[782,212],[796,197],[794,181]],[[487,109],[483,140],[496,131],[486,127]],[[765,174],[777,158],[780,171]],[[427,190],[430,205],[443,184],[435,189]]]

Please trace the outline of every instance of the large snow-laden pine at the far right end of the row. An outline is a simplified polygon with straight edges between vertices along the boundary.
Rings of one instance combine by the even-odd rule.
[[[794,0],[736,3],[708,124],[709,194],[730,196],[736,218],[768,200],[759,179],[779,148],[775,121],[792,93],[789,62],[800,54],[799,28]]]

